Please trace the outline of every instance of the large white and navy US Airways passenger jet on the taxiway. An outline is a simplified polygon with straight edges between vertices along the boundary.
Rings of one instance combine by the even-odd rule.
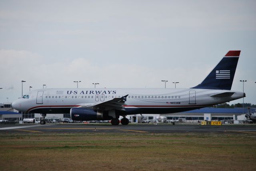
[[[47,113],[70,113],[74,121],[111,120],[112,125],[128,125],[126,115],[177,113],[226,103],[245,97],[231,90],[240,52],[229,51],[201,84],[191,88],[37,89],[14,101],[12,107],[41,113],[41,124]]]

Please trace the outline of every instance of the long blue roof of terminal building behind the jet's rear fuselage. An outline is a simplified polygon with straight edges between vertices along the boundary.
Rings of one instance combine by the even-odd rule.
[[[244,109],[244,113],[247,112],[247,109]],[[243,108],[213,108],[213,107],[204,107],[201,109],[195,109],[190,111],[184,111],[182,113],[243,113]]]

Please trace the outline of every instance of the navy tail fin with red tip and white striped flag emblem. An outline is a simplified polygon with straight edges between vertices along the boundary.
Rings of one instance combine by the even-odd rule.
[[[204,81],[192,88],[230,90],[240,52],[240,50],[230,50]]]

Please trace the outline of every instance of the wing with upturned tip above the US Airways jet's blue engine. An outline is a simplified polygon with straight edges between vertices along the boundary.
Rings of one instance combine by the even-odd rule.
[[[112,109],[116,109],[116,110],[122,110],[125,111],[123,105],[125,104],[126,101],[126,97],[128,95],[125,95],[123,97],[116,97],[114,99],[108,100],[108,101],[103,101],[100,103],[95,103],[92,105],[81,105],[79,107],[82,108],[91,108],[91,109],[101,109],[101,110],[112,110]]]

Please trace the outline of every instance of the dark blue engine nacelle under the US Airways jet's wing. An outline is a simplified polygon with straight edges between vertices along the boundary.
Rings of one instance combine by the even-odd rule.
[[[95,120],[110,120],[108,111],[99,111],[90,108],[74,107],[70,109],[70,117],[74,121],[95,121]]]

